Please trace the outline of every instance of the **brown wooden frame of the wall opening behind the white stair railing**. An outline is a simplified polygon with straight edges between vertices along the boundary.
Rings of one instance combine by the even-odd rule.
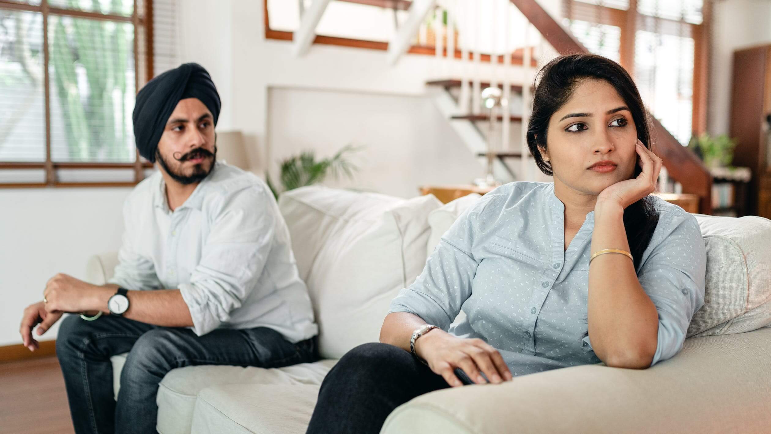
[[[370,5],[370,6],[378,6],[381,8],[392,8],[394,5],[396,5],[396,8],[399,8],[400,10],[407,10],[409,9],[409,5],[411,5],[411,2],[404,2],[403,0],[340,0],[342,2],[348,2],[348,3],[357,3],[360,5]],[[263,0],[263,14],[265,19],[265,39],[277,39],[281,41],[291,41],[294,39],[295,32],[287,32],[284,30],[273,30],[271,29],[271,20],[270,17],[268,17],[268,0]],[[343,47],[353,47],[358,49],[375,49],[375,50],[382,50],[385,51],[388,49],[388,42],[380,42],[380,41],[367,41],[365,39],[350,39],[350,38],[339,38],[337,36],[324,36],[324,35],[315,35],[315,39],[313,40],[314,44],[321,44],[321,45],[338,45]],[[407,50],[410,54],[422,54],[425,56],[436,56],[436,48],[433,46],[428,45],[412,45],[409,47],[409,50]],[[447,47],[443,47],[442,56],[447,56]],[[468,53],[468,58],[473,59],[473,53]],[[480,62],[490,62],[490,55],[482,53],[480,54]],[[495,60],[497,60],[498,63],[503,64],[503,59],[505,56],[493,56]],[[463,59],[463,52],[461,52],[460,49],[455,49],[455,58],[456,59]],[[522,66],[524,62],[524,50],[523,49],[517,49],[513,53],[511,53],[511,65],[513,66]],[[538,66],[537,60],[534,59],[533,52],[531,50],[530,52],[530,64],[534,68]]]

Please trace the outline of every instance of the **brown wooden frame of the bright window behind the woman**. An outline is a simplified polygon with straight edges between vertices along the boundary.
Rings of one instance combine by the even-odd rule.
[[[635,33],[637,32],[637,0],[629,1],[627,10],[611,8],[609,6],[591,5],[589,3],[568,0],[569,7],[577,11],[580,16],[591,19],[600,18],[599,24],[614,25],[621,29],[621,44],[619,47],[619,59],[630,74],[635,71]],[[674,19],[652,17],[665,25],[660,29],[665,33],[678,36],[677,32],[667,31],[675,29],[679,25],[689,26],[689,32],[693,39],[693,89],[692,89],[692,115],[691,131],[694,135],[705,133],[707,130],[707,91],[709,89],[709,25],[712,22],[712,2],[705,0],[702,8],[702,23],[692,24],[680,22]],[[577,19],[581,19],[580,17]]]

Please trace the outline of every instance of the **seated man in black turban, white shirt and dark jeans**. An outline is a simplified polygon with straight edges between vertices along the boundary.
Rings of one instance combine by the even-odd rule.
[[[140,90],[136,148],[159,170],[126,199],[114,275],[94,285],[56,274],[25,310],[32,351],[35,325],[42,335],[64,312],[86,312],[62,320],[56,342],[76,432],[156,432],[158,386],[173,368],[318,360],[311,301],[273,194],[216,161],[220,108],[195,63]],[[123,353],[115,402],[110,357]]]

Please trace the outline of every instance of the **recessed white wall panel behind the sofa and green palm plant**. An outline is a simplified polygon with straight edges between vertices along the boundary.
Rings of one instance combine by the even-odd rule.
[[[329,185],[414,197],[421,185],[483,177],[430,99],[277,87],[268,95],[271,162],[302,150],[325,157],[347,144],[365,146],[353,158],[357,179]],[[270,172],[278,180],[278,164]]]

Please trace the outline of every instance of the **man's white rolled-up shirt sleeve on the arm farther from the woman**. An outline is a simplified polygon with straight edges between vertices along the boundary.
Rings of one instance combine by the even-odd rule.
[[[118,264],[115,267],[113,277],[107,280],[109,284],[116,284],[121,288],[146,291],[160,289],[162,286],[155,271],[153,259],[139,252],[134,244],[138,237],[136,213],[130,204],[131,197],[123,204],[123,240],[118,250]]]

